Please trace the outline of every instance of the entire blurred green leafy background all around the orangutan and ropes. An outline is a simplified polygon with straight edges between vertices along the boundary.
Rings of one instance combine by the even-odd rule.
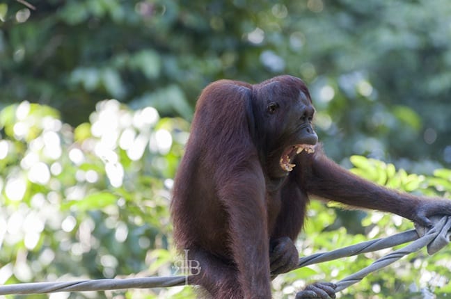
[[[390,188],[450,197],[446,0],[20,2],[0,1],[0,284],[175,274],[173,176],[196,97],[216,79],[301,77],[335,161]],[[305,255],[412,227],[316,201],[309,215]],[[274,298],[384,253],[280,275]],[[445,298],[450,268],[447,248],[422,251],[338,296]]]

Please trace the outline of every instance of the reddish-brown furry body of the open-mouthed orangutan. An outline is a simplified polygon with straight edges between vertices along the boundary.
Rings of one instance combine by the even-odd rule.
[[[277,111],[270,113],[274,103]],[[397,193],[352,175],[318,145],[314,154],[294,156],[292,172],[282,170],[284,149],[316,142],[313,111],[308,89],[292,76],[256,85],[216,81],[200,95],[171,213],[177,247],[188,249],[202,268],[191,282],[213,298],[271,298],[270,269],[281,273],[294,266],[292,241],[310,195],[390,211],[423,225],[429,225],[427,216],[451,214],[447,200]],[[311,294],[306,292],[298,298]],[[328,293],[333,296],[333,289]]]

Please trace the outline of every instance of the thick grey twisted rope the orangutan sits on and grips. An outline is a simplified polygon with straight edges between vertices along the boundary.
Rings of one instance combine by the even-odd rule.
[[[310,257],[299,259],[297,268],[317,264],[324,261],[331,261],[341,257],[351,257],[356,254],[391,248],[395,245],[413,241],[404,248],[396,250],[385,257],[374,261],[373,264],[362,270],[349,275],[337,282],[335,291],[342,291],[351,284],[355,284],[368,274],[379,270],[397,261],[406,254],[416,252],[428,246],[429,254],[434,253],[450,242],[451,236],[451,216],[432,219],[434,227],[432,229],[417,227],[417,231],[409,230],[400,234],[395,234],[384,239],[366,241],[356,245],[351,245],[331,252],[312,254]],[[418,232],[418,233],[417,233]],[[418,236],[420,234],[420,236]],[[157,287],[182,286],[187,284],[189,276],[171,277],[142,277],[111,280],[81,280],[75,282],[34,282],[29,284],[8,284],[0,286],[0,295],[11,294],[33,294],[33,293],[55,293],[63,291],[106,291],[118,289],[151,289]]]

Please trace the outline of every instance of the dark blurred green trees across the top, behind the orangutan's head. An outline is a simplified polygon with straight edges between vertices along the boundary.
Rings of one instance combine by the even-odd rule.
[[[28,2],[0,1],[4,104],[47,104],[77,125],[115,98],[189,120],[211,81],[287,73],[310,86],[334,159],[451,163],[448,0]]]

